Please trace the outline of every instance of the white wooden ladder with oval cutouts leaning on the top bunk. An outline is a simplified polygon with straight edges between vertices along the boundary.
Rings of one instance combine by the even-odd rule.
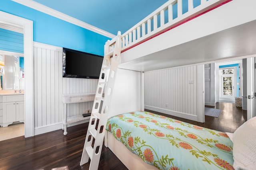
[[[97,170],[99,166],[120,53],[121,33],[118,31],[118,35],[104,46],[104,59],[80,162],[83,165],[90,158],[89,170]]]

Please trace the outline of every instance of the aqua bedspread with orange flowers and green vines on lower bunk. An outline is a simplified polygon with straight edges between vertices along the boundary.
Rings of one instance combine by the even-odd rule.
[[[160,170],[233,170],[226,133],[150,112],[112,117],[106,130],[144,162]]]

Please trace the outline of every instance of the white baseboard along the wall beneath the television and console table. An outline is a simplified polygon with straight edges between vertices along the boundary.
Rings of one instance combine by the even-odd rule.
[[[79,124],[86,123],[86,122],[89,122],[89,121],[90,121],[90,119],[85,119],[85,120],[82,120],[82,121],[78,121],[76,123],[71,123],[71,124],[67,125],[67,127],[79,125]],[[37,128],[34,129],[34,135],[40,135],[40,134],[43,134],[43,133],[47,133],[47,132],[51,132],[51,131],[56,131],[56,130],[59,130],[59,129],[62,129],[62,122],[51,124],[51,125],[37,127]]]

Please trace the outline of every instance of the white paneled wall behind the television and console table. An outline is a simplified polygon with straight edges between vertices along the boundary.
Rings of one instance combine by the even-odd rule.
[[[35,129],[61,124],[62,94],[96,92],[97,83],[98,79],[62,78],[62,48],[34,43]],[[68,104],[68,117],[91,110],[92,104]]]

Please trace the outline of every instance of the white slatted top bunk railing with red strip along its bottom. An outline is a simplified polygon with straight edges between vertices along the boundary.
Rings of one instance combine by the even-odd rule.
[[[182,0],[169,0],[122,34],[121,51],[131,49],[230,1],[232,0],[188,0],[187,4],[182,4]],[[110,47],[105,54],[112,53],[115,39],[116,37],[108,42]]]

